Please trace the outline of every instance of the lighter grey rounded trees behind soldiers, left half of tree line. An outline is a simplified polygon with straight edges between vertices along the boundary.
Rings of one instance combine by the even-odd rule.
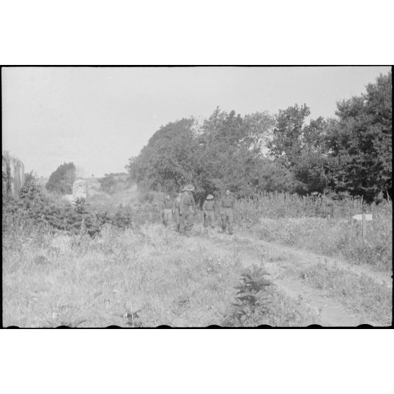
[[[224,189],[236,196],[264,190],[266,184],[288,190],[292,184],[282,181],[285,169],[261,152],[274,124],[268,112],[242,118],[219,108],[202,125],[193,118],[169,123],[129,160],[131,178],[143,189],[166,193],[192,183],[197,201]]]

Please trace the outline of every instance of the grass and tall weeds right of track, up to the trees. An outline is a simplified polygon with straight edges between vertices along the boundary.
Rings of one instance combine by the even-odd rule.
[[[366,239],[361,222],[352,217],[372,213]],[[354,263],[390,271],[393,258],[393,205],[391,201],[366,204],[361,198],[333,200],[326,196],[262,193],[237,201],[239,227],[266,241],[311,249]]]

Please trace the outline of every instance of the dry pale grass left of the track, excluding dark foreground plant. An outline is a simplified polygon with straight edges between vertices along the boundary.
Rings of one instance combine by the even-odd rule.
[[[223,325],[242,272],[237,256],[191,247],[157,225],[138,233],[107,225],[95,238],[30,229],[3,241],[4,326]],[[275,307],[259,324],[314,321],[273,294]]]

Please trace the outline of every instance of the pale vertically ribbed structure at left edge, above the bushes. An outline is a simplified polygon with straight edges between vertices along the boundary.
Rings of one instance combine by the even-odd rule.
[[[18,158],[3,152],[1,162],[3,192],[13,197],[19,196],[19,191],[25,184],[25,166]]]

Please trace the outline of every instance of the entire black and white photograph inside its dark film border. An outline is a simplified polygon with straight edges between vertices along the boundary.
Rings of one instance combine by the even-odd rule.
[[[390,327],[390,66],[4,66],[2,326]]]

